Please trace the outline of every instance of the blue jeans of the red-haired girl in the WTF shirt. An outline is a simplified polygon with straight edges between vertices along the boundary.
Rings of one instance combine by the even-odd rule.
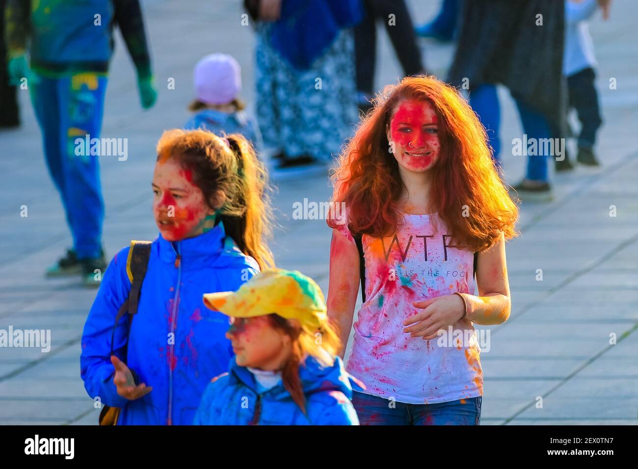
[[[436,404],[405,404],[353,391],[361,425],[479,425],[482,398]]]

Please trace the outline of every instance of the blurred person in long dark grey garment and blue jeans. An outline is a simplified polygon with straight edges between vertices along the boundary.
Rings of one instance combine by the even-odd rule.
[[[499,169],[501,116],[496,84],[509,89],[523,124],[521,141],[538,143],[535,151],[527,151],[524,144],[526,175],[512,188],[521,200],[553,198],[547,158],[556,156],[556,145],[540,142],[563,135],[564,34],[565,6],[555,0],[473,0],[461,6],[449,81],[464,89],[469,85],[470,105],[487,130]]]

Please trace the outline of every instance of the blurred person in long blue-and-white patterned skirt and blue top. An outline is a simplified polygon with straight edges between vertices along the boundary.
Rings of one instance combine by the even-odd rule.
[[[256,23],[257,119],[271,174],[325,171],[357,121],[360,0],[245,0]]]

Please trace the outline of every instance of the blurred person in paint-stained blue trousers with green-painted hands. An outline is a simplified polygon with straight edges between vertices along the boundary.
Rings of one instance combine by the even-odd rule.
[[[31,93],[47,167],[73,235],[73,248],[47,276],[81,274],[84,285],[99,287],[107,267],[98,161],[105,145],[93,142],[100,142],[94,139],[100,139],[116,23],[135,63],[142,107],[157,98],[139,1],[8,0],[5,22],[10,81]]]

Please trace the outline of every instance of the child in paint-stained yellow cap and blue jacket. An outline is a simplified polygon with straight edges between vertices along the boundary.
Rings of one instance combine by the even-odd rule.
[[[350,399],[364,385],[336,356],[339,339],[313,279],[269,269],[204,302],[231,317],[235,357],[205,390],[196,425],[359,425]]]

